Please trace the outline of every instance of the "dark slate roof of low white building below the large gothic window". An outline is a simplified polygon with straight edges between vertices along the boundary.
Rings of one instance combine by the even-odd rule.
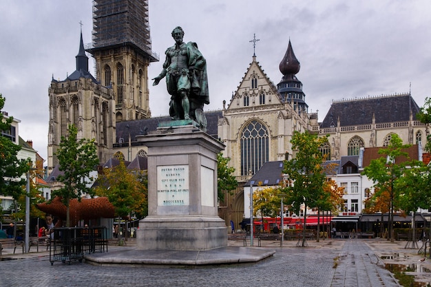
[[[250,183],[257,186],[260,182],[264,186],[278,185],[283,178],[283,161],[265,162],[264,165],[255,173],[244,187],[249,187]]]

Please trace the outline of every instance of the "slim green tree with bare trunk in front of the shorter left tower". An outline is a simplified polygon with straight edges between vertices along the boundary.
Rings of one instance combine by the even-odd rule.
[[[59,159],[59,169],[63,174],[57,178],[63,187],[52,192],[59,196],[66,206],[66,226],[70,226],[70,200],[81,200],[82,195],[94,196],[90,184],[93,180],[90,172],[98,165],[97,147],[93,140],[78,139],[78,130],[74,125],[67,129],[68,135],[61,137],[56,156]]]

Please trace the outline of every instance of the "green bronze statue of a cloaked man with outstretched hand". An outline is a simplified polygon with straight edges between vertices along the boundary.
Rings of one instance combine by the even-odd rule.
[[[184,31],[176,27],[172,31],[175,45],[167,48],[163,70],[153,85],[166,76],[167,92],[171,95],[169,114],[173,120],[195,120],[206,131],[207,118],[204,104],[209,104],[207,61],[193,42],[184,43]]]

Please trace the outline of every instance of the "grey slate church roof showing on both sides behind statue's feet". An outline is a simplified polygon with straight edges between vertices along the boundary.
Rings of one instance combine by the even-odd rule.
[[[207,116],[207,134],[217,138],[217,125],[218,119],[222,118],[222,111],[206,111]],[[149,131],[155,131],[158,124],[163,121],[169,121],[169,116],[159,116],[155,118],[144,118],[141,120],[129,120],[125,122],[116,123],[116,142],[119,142],[120,138],[123,138],[123,142],[136,142],[136,136],[146,135]]]

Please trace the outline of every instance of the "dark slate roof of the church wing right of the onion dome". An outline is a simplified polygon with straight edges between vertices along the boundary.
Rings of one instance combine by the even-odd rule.
[[[415,120],[419,106],[410,94],[340,100],[332,103],[320,127],[337,127],[338,118],[341,127],[371,124],[373,114],[375,123],[400,122],[410,120],[410,111]]]

